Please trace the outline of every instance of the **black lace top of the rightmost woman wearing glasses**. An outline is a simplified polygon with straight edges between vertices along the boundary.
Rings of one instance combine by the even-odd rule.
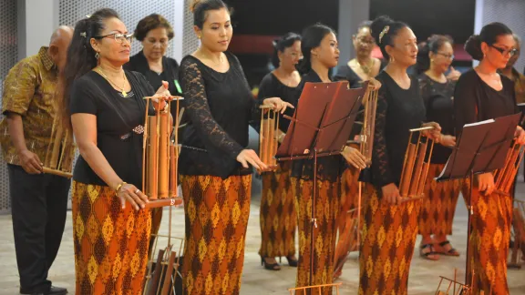
[[[458,135],[465,124],[509,116],[520,111],[514,98],[514,83],[506,76],[501,76],[501,83],[503,89],[496,91],[481,80],[474,69],[459,77],[454,91]]]

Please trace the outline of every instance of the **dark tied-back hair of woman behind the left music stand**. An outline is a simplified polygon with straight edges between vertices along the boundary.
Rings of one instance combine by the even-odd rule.
[[[335,31],[328,25],[315,24],[306,27],[303,31],[301,40],[301,51],[303,60],[297,66],[299,73],[306,74],[312,69],[312,49],[321,45],[324,36],[334,33]]]

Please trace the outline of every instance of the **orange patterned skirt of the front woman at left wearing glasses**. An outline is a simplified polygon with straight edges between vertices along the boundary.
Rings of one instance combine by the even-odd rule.
[[[108,187],[73,181],[76,293],[142,293],[148,263],[149,209],[122,209]]]

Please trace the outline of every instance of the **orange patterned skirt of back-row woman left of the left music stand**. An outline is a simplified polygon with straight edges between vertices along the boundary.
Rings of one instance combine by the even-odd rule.
[[[291,163],[262,175],[261,257],[291,257],[295,254],[295,201],[290,188]]]

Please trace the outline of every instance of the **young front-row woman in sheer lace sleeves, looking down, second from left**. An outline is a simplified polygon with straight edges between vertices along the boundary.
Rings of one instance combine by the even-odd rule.
[[[248,121],[259,109],[237,57],[228,7],[221,0],[194,1],[195,33],[201,46],[180,62],[189,117],[182,137],[180,183],[186,242],[184,294],[239,294],[244,240],[250,215],[252,165],[264,165],[248,145]],[[290,104],[263,100],[275,110]]]

